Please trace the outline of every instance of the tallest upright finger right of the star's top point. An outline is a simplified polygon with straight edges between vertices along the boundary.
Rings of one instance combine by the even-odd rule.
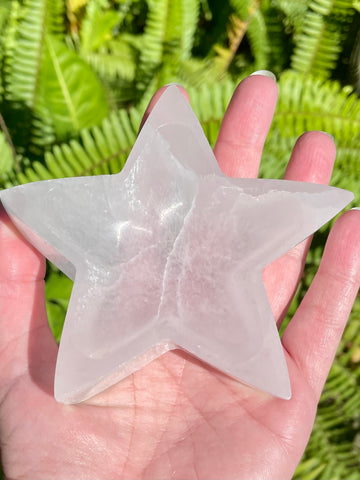
[[[276,101],[276,82],[264,75],[246,78],[235,90],[214,149],[229,177],[257,177]]]

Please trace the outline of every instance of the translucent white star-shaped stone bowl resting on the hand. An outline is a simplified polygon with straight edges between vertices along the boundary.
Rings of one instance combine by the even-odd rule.
[[[23,235],[74,280],[55,397],[77,403],[174,348],[290,398],[262,270],[353,195],[226,177],[171,86],[121,173],[36,182],[0,198]]]

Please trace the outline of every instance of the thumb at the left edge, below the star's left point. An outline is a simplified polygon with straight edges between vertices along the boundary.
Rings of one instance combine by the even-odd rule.
[[[44,258],[21,237],[1,207],[0,395],[18,377],[31,375],[39,360],[55,358],[56,344],[46,316],[44,275]]]

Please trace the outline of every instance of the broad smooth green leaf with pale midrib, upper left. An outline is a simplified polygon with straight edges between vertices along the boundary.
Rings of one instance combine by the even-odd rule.
[[[39,92],[39,104],[47,108],[59,139],[100,123],[107,115],[105,94],[94,72],[53,36],[45,37]]]

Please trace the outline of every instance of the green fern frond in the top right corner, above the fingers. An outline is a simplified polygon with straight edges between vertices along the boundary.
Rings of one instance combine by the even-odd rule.
[[[295,36],[292,68],[328,78],[354,13],[352,0],[312,0],[303,27]]]

